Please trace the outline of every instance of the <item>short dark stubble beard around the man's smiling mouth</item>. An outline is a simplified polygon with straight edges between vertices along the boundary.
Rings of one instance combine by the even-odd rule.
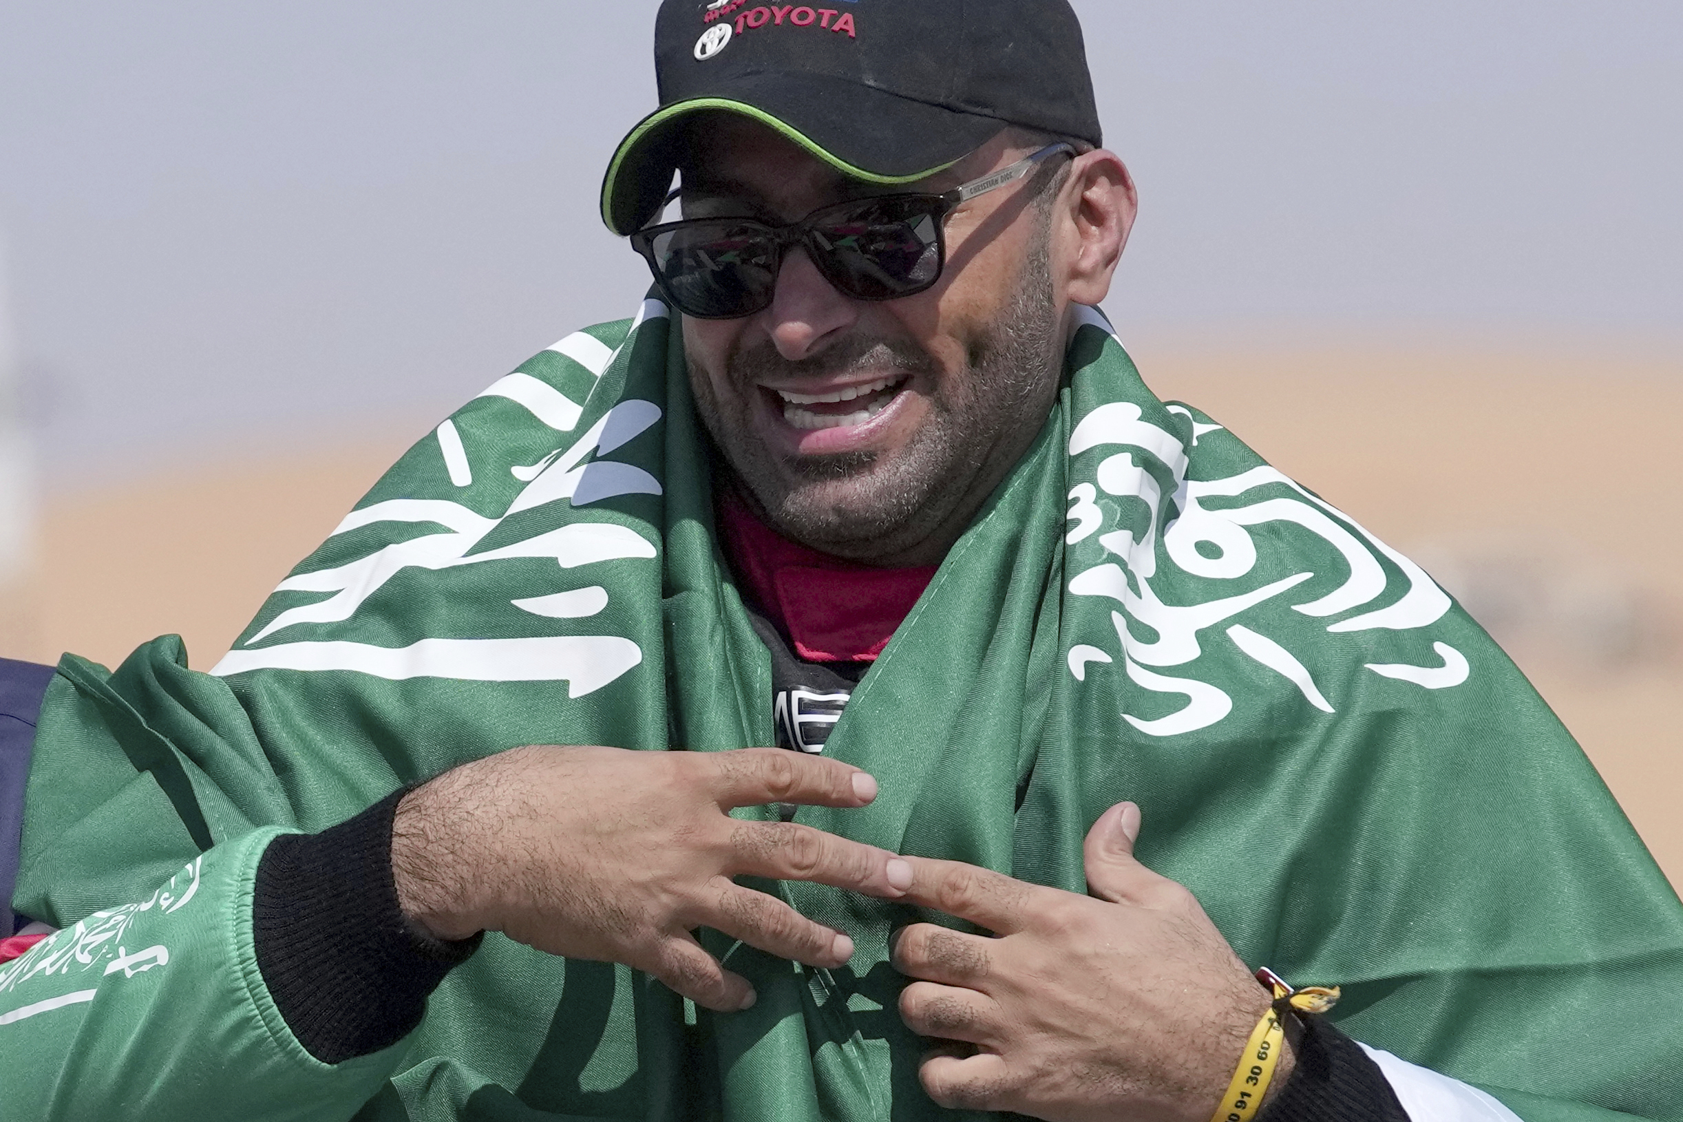
[[[724,417],[707,375],[690,367],[697,410],[737,479],[784,537],[840,557],[873,560],[924,542],[978,486],[1003,474],[1003,451],[1015,456],[1038,431],[1055,392],[1059,325],[1052,301],[1047,230],[1038,230],[991,330],[974,340],[966,368],[937,380],[936,360],[907,338],[843,340],[825,353],[789,362],[771,340],[727,360],[730,385],[744,400],[771,378],[836,377],[853,370],[924,375],[929,414],[904,447],[783,458],[754,436],[746,410]],[[1008,468],[1008,466],[1006,466]],[[791,479],[793,478],[793,479]]]

